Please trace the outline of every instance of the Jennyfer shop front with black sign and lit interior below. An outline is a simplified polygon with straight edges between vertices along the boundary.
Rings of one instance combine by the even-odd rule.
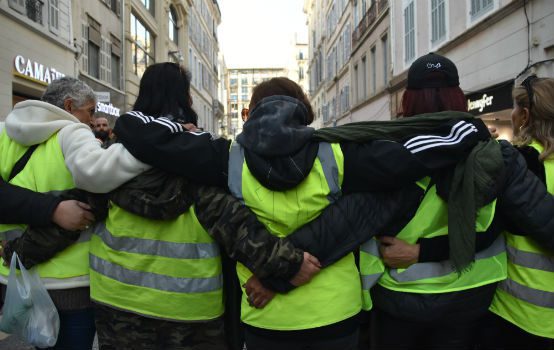
[[[481,118],[489,127],[495,127],[500,139],[511,140],[513,108],[513,80],[489,86],[466,94],[469,113]]]

